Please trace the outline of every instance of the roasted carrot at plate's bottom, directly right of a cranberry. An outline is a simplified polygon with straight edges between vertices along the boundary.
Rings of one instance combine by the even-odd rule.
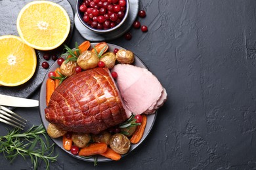
[[[108,146],[106,143],[92,143],[85,148],[79,150],[79,156],[93,156],[106,152]]]

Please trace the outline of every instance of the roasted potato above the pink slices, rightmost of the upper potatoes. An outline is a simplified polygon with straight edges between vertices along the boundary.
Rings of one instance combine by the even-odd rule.
[[[116,53],[116,59],[119,63],[131,64],[134,61],[134,54],[130,50],[120,49]]]

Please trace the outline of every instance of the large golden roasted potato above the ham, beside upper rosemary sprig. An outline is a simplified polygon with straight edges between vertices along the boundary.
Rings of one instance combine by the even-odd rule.
[[[77,65],[84,70],[93,69],[98,66],[98,61],[100,61],[98,56],[96,56],[94,52],[87,50],[79,55],[77,58]]]

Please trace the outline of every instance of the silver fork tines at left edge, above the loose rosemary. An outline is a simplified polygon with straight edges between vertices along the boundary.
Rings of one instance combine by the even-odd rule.
[[[13,127],[18,127],[23,130],[23,127],[25,127],[28,120],[22,118],[15,112],[12,112],[12,110],[9,110],[6,107],[0,105],[0,122],[9,124]]]

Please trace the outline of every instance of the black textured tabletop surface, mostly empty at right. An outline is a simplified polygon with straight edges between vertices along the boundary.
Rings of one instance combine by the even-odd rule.
[[[135,52],[167,90],[152,131],[120,161],[96,167],[56,147],[50,169],[255,169],[255,7],[253,0],[140,1],[148,32],[132,28],[131,41],[108,42]],[[75,41],[85,39],[74,28],[71,47]],[[41,124],[38,108],[15,111],[28,127]],[[10,127],[0,126],[5,135]],[[32,168],[29,159],[10,164],[0,154],[0,169]]]

